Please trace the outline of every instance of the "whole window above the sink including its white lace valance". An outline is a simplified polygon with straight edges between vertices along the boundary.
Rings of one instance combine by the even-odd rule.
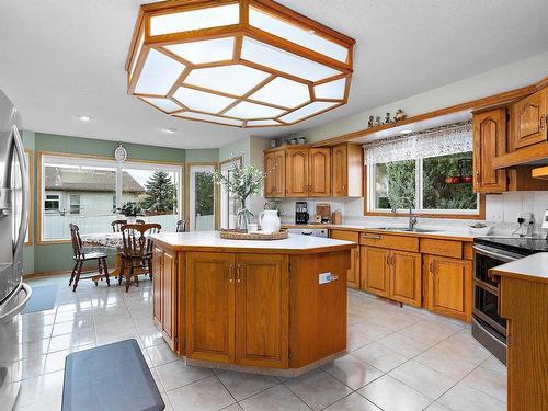
[[[473,218],[481,196],[472,185],[472,130],[457,123],[365,147],[365,214],[403,214],[412,203],[422,215]]]

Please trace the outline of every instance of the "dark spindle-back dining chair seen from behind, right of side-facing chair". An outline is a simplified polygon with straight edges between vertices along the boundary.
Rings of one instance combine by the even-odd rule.
[[[150,235],[160,232],[159,224],[128,224],[122,226],[122,267],[118,284],[126,279],[126,292],[129,284],[138,283],[139,274],[147,274],[152,279],[152,240]]]

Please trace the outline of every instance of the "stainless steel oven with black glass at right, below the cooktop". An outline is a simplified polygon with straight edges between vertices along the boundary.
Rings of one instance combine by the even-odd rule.
[[[489,270],[524,255],[486,244],[473,246],[472,335],[506,363],[506,320],[499,315],[499,284]]]

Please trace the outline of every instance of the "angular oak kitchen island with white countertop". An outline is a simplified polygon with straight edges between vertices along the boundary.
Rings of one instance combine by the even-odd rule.
[[[153,319],[189,364],[295,376],[346,349],[355,242],[224,240],[215,231],[151,238]]]

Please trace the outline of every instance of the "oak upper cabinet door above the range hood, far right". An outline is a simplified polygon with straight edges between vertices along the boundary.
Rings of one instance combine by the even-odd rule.
[[[512,105],[513,149],[547,140],[547,100],[548,88],[545,88]]]

